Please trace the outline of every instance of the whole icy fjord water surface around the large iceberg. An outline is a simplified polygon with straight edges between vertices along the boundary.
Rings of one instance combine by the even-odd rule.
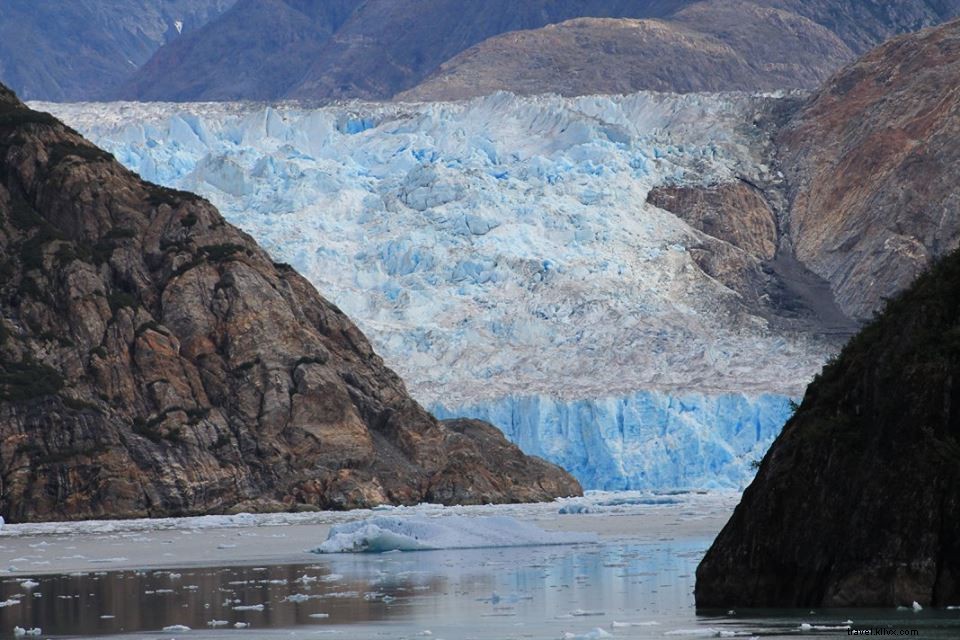
[[[385,554],[305,553],[330,523],[369,511],[14,525],[0,531],[9,576],[0,582],[0,633],[19,626],[71,638],[845,637],[852,621],[917,629],[913,637],[960,635],[956,610],[698,616],[694,572],[735,500],[596,493],[539,505],[393,509],[400,517],[510,515],[601,537]],[[253,560],[245,545],[266,555]],[[274,561],[263,561],[270,555]]]

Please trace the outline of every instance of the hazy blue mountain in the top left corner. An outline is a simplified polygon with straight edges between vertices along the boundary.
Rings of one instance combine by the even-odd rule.
[[[0,81],[25,99],[89,100],[116,91],[157,49],[235,0],[4,0]]]

